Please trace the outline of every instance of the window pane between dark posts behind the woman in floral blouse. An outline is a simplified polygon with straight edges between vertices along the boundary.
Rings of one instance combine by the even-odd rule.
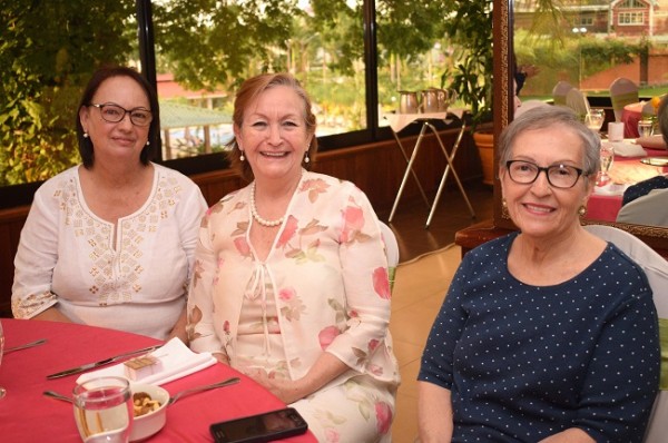
[[[310,92],[317,136],[366,127],[361,1],[154,3],[165,159],[224,149],[234,93],[264,71]]]

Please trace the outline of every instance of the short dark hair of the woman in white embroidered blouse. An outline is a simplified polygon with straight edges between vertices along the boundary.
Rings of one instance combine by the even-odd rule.
[[[110,79],[112,77],[129,77],[135,80],[144,92],[146,92],[146,98],[148,98],[150,114],[153,115],[153,120],[150,122],[148,129],[148,141],[149,144],[141,149],[141,154],[139,155],[139,160],[143,165],[148,165],[150,160],[154,159],[155,149],[159,146],[160,141],[160,106],[158,104],[158,95],[154,87],[140,75],[136,69],[128,68],[124,66],[109,66],[102,67],[94,72],[92,77],[88,81],[86,89],[84,90],[84,95],[81,96],[81,101],[79,102],[79,107],[77,108],[77,139],[79,141],[79,155],[81,155],[81,160],[86,168],[92,167],[95,163],[95,149],[92,146],[92,141],[90,137],[84,137],[84,126],[81,126],[81,119],[79,118],[79,111],[82,107],[90,106],[92,97],[100,88],[100,85],[105,82],[105,80]]]

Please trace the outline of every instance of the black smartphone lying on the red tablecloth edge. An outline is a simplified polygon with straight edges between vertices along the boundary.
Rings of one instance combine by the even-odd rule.
[[[272,442],[303,434],[307,429],[294,407],[214,423],[209,427],[216,443]]]

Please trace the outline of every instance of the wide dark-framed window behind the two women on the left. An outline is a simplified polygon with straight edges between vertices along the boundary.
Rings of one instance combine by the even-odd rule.
[[[322,149],[336,149],[390,138],[382,116],[397,108],[399,90],[440,87],[453,57],[433,20],[453,8],[446,1],[19,3],[0,12],[6,207],[30,203],[40,181],[79,163],[78,98],[102,63],[135,66],[156,83],[158,161],[194,174],[225,165],[245,78],[293,72],[313,97]]]

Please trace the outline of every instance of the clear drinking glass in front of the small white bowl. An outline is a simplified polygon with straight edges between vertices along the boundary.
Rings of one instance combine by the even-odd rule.
[[[127,443],[132,424],[130,383],[124,377],[98,377],[73,390],[75,421],[86,443]]]

